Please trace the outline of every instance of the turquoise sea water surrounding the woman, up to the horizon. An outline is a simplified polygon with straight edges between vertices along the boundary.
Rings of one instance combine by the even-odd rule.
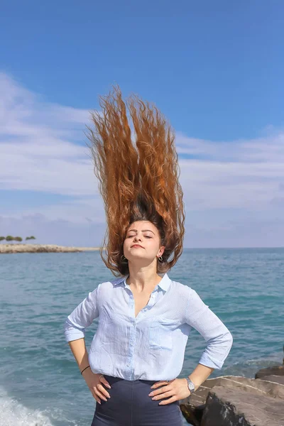
[[[284,249],[185,249],[170,278],[190,285],[224,321],[234,345],[222,371],[253,377],[282,363]],[[99,253],[0,256],[1,426],[89,426],[95,400],[63,334],[67,315],[113,278]],[[87,329],[87,348],[97,320]],[[179,377],[204,341],[192,332]]]

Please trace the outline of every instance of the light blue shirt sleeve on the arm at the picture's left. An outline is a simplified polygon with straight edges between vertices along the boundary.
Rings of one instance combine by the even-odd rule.
[[[75,310],[68,315],[64,324],[66,342],[82,339],[84,329],[89,327],[95,318],[99,317],[98,292],[100,285],[90,292],[80,305],[75,307]]]

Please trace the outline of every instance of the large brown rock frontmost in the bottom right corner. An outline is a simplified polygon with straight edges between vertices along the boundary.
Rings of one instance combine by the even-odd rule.
[[[283,422],[283,400],[214,386],[207,396],[200,426],[283,426]]]

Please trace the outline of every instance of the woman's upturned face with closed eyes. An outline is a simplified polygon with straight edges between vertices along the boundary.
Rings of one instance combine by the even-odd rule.
[[[129,262],[152,262],[155,257],[162,256],[164,250],[165,247],[160,246],[159,231],[152,222],[141,220],[129,226],[124,240],[124,256]]]

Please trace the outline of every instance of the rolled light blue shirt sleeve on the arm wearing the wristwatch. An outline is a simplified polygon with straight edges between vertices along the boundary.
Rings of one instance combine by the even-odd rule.
[[[207,342],[199,363],[220,370],[231,350],[233,337],[231,333],[197,295],[189,288],[190,297],[185,312],[185,322],[195,328]]]

